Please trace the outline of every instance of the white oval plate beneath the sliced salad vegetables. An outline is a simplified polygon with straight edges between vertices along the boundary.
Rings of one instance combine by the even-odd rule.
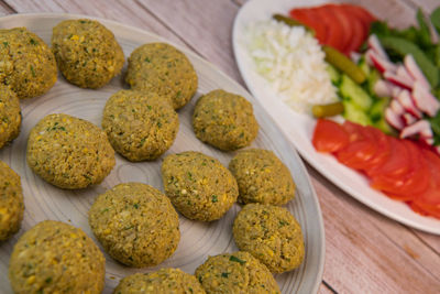
[[[440,220],[414,213],[406,204],[393,200],[370,188],[364,176],[338,163],[333,156],[316,152],[311,144],[316,120],[310,116],[297,113],[284,105],[276,92],[270,88],[267,81],[253,70],[252,59],[243,44],[244,32],[249,23],[267,20],[274,13],[287,14],[294,7],[312,7],[326,2],[329,1],[251,0],[246,2],[235,18],[232,34],[233,51],[241,75],[250,91],[260,100],[301,156],[321,174],[348,194],[381,214],[414,228],[440,235]]]

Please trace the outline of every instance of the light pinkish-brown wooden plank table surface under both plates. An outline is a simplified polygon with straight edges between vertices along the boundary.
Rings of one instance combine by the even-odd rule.
[[[244,86],[231,45],[233,20],[243,2],[245,0],[0,0],[0,15],[68,12],[134,25],[189,47]],[[388,8],[398,0],[352,2],[396,23],[411,21],[387,14],[391,13]],[[414,10],[420,6],[429,12],[440,2],[405,0],[400,4]],[[388,219],[306,165],[326,228],[326,265],[319,293],[440,293],[440,236]]]

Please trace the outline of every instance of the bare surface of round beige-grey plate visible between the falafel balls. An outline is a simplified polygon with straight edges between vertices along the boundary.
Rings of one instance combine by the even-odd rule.
[[[10,15],[0,19],[0,28],[26,26],[38,34],[45,42],[50,42],[52,28],[58,22],[72,18],[90,17],[72,14]],[[114,33],[125,56],[129,56],[141,44],[165,42],[160,36],[132,26],[107,20],[98,20]],[[283,293],[316,293],[322,276],[324,236],[318,198],[310,185],[301,160],[255,98],[239,84],[219,72],[213,65],[185,48],[180,50],[189,57],[197,70],[199,88],[191,102],[179,111],[180,129],[174,145],[166,154],[196,150],[215,156],[224,165],[228,165],[234,153],[224,153],[209,148],[194,135],[190,117],[195,101],[201,94],[217,88],[240,94],[252,101],[256,119],[261,126],[253,146],[273,150],[289,167],[297,184],[297,197],[287,205],[287,208],[298,219],[305,233],[305,262],[293,272],[276,275],[276,280]],[[24,118],[21,134],[11,145],[0,151],[0,159],[6,161],[21,175],[25,203],[21,231],[8,242],[0,244],[0,285],[2,285],[2,293],[11,292],[7,272],[12,247],[18,237],[36,222],[44,219],[57,219],[70,222],[74,226],[82,228],[88,236],[97,241],[90,231],[87,221],[87,211],[98,194],[103,193],[118,183],[129,181],[147,183],[163,190],[160,168],[161,160],[130,163],[118,155],[116,167],[101,185],[77,192],[63,190],[43,182],[32,173],[25,162],[28,134],[41,118],[53,112],[65,112],[100,126],[103,105],[122,86],[122,78],[117,77],[99,90],[87,90],[69,85],[59,77],[55,87],[46,95],[21,101]],[[232,221],[238,211],[239,206],[235,205],[222,219],[210,224],[190,221],[180,217],[182,239],[178,249],[172,258],[156,268],[130,269],[113,261],[106,254],[107,273],[105,293],[111,293],[121,277],[134,272],[151,272],[164,266],[175,266],[188,273],[194,273],[195,269],[205,262],[208,255],[238,250],[231,231]]]

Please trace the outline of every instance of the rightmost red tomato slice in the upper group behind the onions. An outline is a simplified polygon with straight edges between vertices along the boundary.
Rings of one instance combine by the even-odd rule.
[[[369,35],[370,24],[364,23],[360,18],[358,18],[356,13],[352,13],[353,11],[348,8],[350,6],[342,4],[341,11],[345,14],[345,18],[350,21],[350,25],[352,28],[352,37],[349,44],[344,48],[344,53],[350,55],[353,51],[359,51],[362,43]]]

